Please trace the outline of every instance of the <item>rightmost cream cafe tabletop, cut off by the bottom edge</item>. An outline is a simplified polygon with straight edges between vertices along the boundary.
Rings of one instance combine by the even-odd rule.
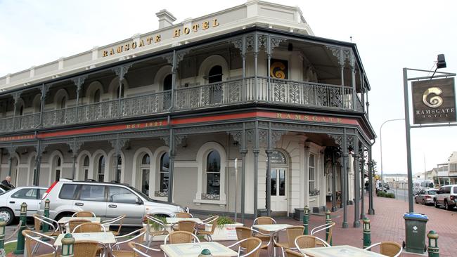
[[[365,251],[349,245],[305,248],[300,249],[300,251],[307,256],[313,257],[385,257],[380,253]]]

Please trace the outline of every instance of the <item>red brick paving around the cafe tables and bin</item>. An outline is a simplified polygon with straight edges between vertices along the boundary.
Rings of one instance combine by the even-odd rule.
[[[368,198],[366,198],[368,202]],[[367,204],[368,205],[368,204]],[[366,215],[371,220],[371,242],[394,241],[401,244],[405,239],[405,224],[403,215],[408,211],[408,203],[382,197],[374,197],[375,215]],[[446,211],[444,209],[435,209],[433,206],[423,206],[414,204],[416,213],[424,213],[429,217],[427,223],[427,232],[435,230],[439,235],[438,245],[440,256],[457,256],[457,210]],[[366,213],[368,212],[368,206]],[[338,209],[332,213],[332,219],[337,223],[333,230],[333,245],[349,244],[361,248],[363,246],[362,226],[353,228],[354,222],[354,206],[348,206],[348,224],[349,228],[342,228],[342,209]],[[300,221],[289,218],[276,218],[278,223],[288,223],[292,225],[302,225]],[[325,216],[311,215],[310,227],[314,228],[317,225],[325,223]],[[252,220],[246,220],[246,225],[252,225]],[[7,234],[8,236],[8,234]],[[318,235],[325,237],[324,234]],[[221,242],[224,245],[233,244],[234,242]],[[153,243],[155,244],[155,243]],[[154,247],[159,248],[160,246]],[[426,239],[427,244],[427,239]],[[12,256],[9,254],[8,256]],[[151,256],[160,256],[163,254],[153,254]],[[262,257],[268,256],[266,251],[262,251]],[[419,256],[411,253],[403,253],[402,256]]]

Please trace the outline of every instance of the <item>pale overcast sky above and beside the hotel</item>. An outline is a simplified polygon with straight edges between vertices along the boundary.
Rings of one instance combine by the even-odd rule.
[[[0,0],[0,77],[94,46],[158,27],[163,8],[181,22],[245,1],[20,1]],[[380,171],[380,125],[404,118],[402,68],[435,69],[446,55],[446,72],[457,72],[457,1],[304,1],[299,6],[318,37],[357,44],[371,84],[370,119],[378,134],[373,159]],[[427,74],[409,74],[426,76]],[[413,129],[413,172],[432,169],[457,151],[457,127]],[[404,121],[382,127],[384,173],[406,173]]]

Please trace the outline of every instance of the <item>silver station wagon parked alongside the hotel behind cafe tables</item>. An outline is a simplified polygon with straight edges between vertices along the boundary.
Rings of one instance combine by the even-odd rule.
[[[177,204],[150,199],[127,184],[81,180],[56,181],[41,199],[39,213],[49,199],[49,218],[60,220],[77,211],[91,211],[101,220],[127,215],[123,225],[141,225],[146,214],[172,217],[183,212]]]

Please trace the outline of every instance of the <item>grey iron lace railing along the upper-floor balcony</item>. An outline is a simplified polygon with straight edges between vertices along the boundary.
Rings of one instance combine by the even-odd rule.
[[[258,101],[275,105],[302,105],[321,108],[353,109],[352,88],[268,77],[246,77],[213,84],[177,88],[147,95],[90,103],[76,107],[43,112],[43,127],[80,124],[91,121],[139,117],[170,110],[193,110],[221,105]],[[355,110],[363,112],[359,97],[355,97]],[[36,129],[39,114],[0,119],[0,132]]]

